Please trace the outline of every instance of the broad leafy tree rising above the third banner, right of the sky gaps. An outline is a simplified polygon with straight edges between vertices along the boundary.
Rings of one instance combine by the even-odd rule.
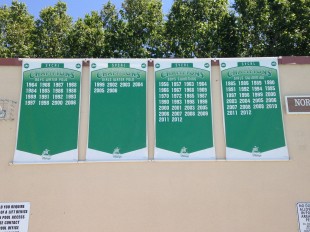
[[[169,48],[176,57],[219,57],[229,22],[227,0],[175,0],[168,15]]]

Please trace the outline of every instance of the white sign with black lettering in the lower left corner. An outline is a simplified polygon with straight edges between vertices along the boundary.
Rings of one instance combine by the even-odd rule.
[[[0,231],[27,232],[30,203],[0,203]]]

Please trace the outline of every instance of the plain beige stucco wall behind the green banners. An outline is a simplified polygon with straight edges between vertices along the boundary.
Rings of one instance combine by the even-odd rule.
[[[284,96],[310,94],[310,65],[279,69],[290,161],[224,160],[219,66],[213,66],[217,161],[10,165],[16,112],[14,121],[0,121],[0,202],[31,203],[29,232],[297,232],[296,203],[310,202],[310,115],[287,115]],[[81,161],[87,140],[88,71],[83,68]],[[0,66],[0,98],[19,102],[20,86],[21,67]]]

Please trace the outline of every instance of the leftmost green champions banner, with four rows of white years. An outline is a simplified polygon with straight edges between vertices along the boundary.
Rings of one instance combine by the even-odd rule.
[[[78,160],[81,60],[23,60],[14,163]]]

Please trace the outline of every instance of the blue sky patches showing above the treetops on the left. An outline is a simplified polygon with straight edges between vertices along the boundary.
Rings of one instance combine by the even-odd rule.
[[[85,14],[91,11],[100,11],[102,6],[108,2],[108,0],[62,0],[67,3],[68,15],[73,17],[76,21],[79,17],[84,18]],[[28,12],[35,17],[39,18],[39,12],[48,6],[54,6],[58,0],[19,0],[23,2],[28,7]],[[123,0],[111,0],[111,2],[116,6],[118,10],[121,9]],[[12,0],[0,0],[0,5],[10,6]],[[163,13],[168,14],[173,0],[163,0]]]

